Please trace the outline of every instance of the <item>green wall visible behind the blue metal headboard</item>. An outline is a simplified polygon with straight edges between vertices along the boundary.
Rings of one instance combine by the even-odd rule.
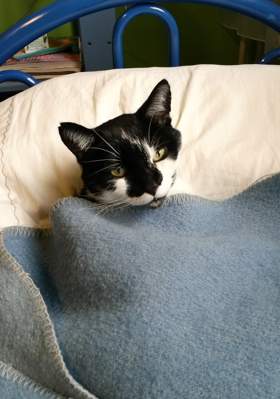
[[[33,0],[0,0],[0,33],[12,26],[32,2]],[[38,0],[28,14],[51,2]],[[162,6],[171,12],[178,26],[180,65],[237,63],[239,37],[234,30],[220,24],[219,8],[187,3],[162,3]],[[123,11],[124,7],[117,8],[116,17]],[[77,35],[77,24],[70,22],[49,34]],[[153,16],[135,18],[124,31],[124,66],[168,66],[167,43],[166,28],[160,20]],[[247,59],[247,62],[252,61]]]

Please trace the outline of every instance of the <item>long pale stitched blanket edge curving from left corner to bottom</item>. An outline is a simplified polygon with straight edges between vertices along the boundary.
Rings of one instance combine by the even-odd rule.
[[[2,265],[9,269],[12,273],[16,273],[18,279],[26,288],[27,294],[30,296],[34,306],[36,308],[36,315],[39,318],[39,324],[41,329],[45,330],[43,336],[45,337],[45,344],[49,350],[49,357],[52,357],[53,367],[56,369],[57,374],[61,376],[61,382],[65,381],[66,387],[73,389],[75,397],[77,399],[97,399],[95,395],[89,393],[83,388],[69,373],[64,360],[62,358],[61,350],[57,343],[55,331],[53,329],[53,323],[47,312],[47,307],[41,296],[39,289],[35,286],[33,280],[29,277],[28,273],[24,271],[22,266],[16,262],[16,260],[10,255],[4,245],[4,238],[11,236],[12,234],[19,235],[50,235],[51,229],[36,229],[34,227],[7,227],[0,232],[0,261]]]

